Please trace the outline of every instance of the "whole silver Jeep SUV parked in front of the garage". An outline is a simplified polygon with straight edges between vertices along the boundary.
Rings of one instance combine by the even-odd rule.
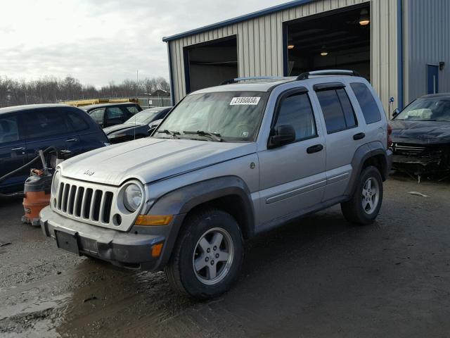
[[[164,268],[207,299],[236,280],[255,234],[335,204],[375,220],[388,142],[380,100],[352,71],[229,80],[186,96],[151,137],[61,163],[41,228],[60,249]]]

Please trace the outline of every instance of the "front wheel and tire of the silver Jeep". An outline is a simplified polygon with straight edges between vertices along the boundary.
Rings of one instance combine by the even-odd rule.
[[[201,300],[214,298],[238,277],[243,254],[242,232],[233,216],[207,209],[186,218],[165,274],[181,294]]]

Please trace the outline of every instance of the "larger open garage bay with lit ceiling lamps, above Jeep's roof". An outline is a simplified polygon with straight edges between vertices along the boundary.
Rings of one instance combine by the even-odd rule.
[[[311,70],[355,70],[371,80],[370,4],[285,24],[285,75]]]

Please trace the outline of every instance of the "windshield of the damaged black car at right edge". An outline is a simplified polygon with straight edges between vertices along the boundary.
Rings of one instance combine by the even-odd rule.
[[[404,108],[394,120],[450,122],[450,100],[417,99]]]

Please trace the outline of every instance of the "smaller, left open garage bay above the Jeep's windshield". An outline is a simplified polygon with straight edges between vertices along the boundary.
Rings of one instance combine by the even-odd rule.
[[[236,35],[184,48],[186,93],[238,77]]]

